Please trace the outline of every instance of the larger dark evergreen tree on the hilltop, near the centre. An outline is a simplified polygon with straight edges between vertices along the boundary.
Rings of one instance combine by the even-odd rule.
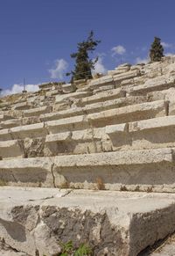
[[[91,70],[95,69],[95,63],[98,61],[98,57],[93,61],[89,59],[88,52],[93,53],[100,42],[100,40],[94,40],[94,32],[91,31],[87,40],[78,43],[77,53],[71,55],[75,59],[74,71],[66,73],[66,76],[73,75],[72,81],[92,78]]]

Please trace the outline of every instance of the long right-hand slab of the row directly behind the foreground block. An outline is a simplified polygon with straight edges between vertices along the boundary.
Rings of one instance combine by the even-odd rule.
[[[173,154],[158,149],[55,157],[55,186],[173,192]]]

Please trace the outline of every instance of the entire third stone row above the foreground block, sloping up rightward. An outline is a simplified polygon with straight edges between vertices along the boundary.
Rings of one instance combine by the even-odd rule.
[[[105,127],[128,121],[139,121],[165,116],[168,113],[168,102],[158,100],[155,102],[123,106],[109,109],[100,113],[89,113],[57,121],[45,121],[31,125],[19,126],[0,130],[0,141],[11,139],[24,139],[25,137],[45,137],[47,134],[58,134],[59,132],[82,130],[86,128]]]

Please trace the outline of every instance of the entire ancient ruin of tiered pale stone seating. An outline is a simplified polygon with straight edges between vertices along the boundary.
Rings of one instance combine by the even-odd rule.
[[[0,107],[0,255],[136,256],[174,232],[174,56]]]

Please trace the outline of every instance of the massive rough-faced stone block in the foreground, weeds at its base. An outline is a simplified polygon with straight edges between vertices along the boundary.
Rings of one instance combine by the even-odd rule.
[[[136,256],[175,230],[174,194],[0,187],[0,205],[4,244],[31,256],[70,240],[96,256]]]

